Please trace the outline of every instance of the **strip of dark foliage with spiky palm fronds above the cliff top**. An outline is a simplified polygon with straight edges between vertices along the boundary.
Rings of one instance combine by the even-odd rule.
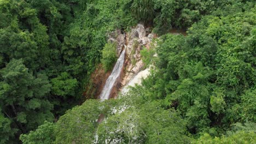
[[[134,0],[131,12],[137,20],[153,23],[155,33],[166,34],[172,28],[187,28],[204,15],[228,15],[244,10],[243,7],[250,7],[252,3],[241,0]]]

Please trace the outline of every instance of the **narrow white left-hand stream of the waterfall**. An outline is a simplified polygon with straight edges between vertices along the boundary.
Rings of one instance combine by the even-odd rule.
[[[106,84],[100,94],[101,100],[109,99],[110,92],[123,68],[124,60],[125,60],[125,49],[123,50],[120,57],[118,58],[117,63],[115,63],[115,67],[106,81]]]

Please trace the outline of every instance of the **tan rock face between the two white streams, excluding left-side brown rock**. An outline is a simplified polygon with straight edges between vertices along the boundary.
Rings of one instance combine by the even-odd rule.
[[[130,32],[118,34],[116,38],[110,37],[110,39],[118,43],[118,55],[126,47],[124,69],[120,79],[117,81],[117,87],[113,89],[112,98],[117,97],[120,88],[127,85],[142,70],[144,64],[141,59],[141,50],[149,49],[150,43],[155,37],[156,35],[150,33],[149,28],[145,28],[141,24],[138,24],[135,28],[131,28]]]

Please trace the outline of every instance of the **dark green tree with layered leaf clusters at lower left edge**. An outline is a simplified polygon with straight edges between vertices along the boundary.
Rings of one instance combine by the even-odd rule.
[[[34,77],[22,61],[16,59],[12,59],[0,70],[0,74],[2,111],[22,133],[32,130],[44,121],[53,121],[53,104],[46,99],[51,85],[46,76],[38,74]]]

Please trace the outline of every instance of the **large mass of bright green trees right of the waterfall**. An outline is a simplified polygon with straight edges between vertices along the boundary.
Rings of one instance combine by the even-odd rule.
[[[186,37],[162,35],[151,86],[144,83],[141,95],[175,107],[192,134],[218,135],[232,123],[255,121],[255,24],[242,19],[248,13],[203,17]]]

